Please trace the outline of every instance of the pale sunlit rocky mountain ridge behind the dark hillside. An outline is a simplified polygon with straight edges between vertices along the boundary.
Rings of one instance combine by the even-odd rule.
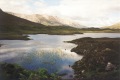
[[[27,14],[18,14],[18,13],[11,13],[11,12],[8,12],[8,13],[14,16],[35,22],[35,23],[46,25],[46,26],[71,26],[71,27],[77,27],[77,28],[85,28],[85,26],[80,25],[79,23],[71,19],[61,18],[58,16],[40,15],[40,14],[27,15]]]

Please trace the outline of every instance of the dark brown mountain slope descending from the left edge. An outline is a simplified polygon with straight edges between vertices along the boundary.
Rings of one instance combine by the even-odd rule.
[[[14,32],[14,31],[25,31],[25,30],[35,30],[33,26],[45,27],[42,24],[37,24],[13,15],[10,15],[0,9],[0,32]]]

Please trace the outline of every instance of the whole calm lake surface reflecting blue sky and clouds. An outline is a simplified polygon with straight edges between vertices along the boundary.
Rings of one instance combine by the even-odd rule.
[[[63,78],[72,78],[71,65],[82,56],[71,52],[77,45],[66,43],[83,37],[120,38],[119,33],[85,33],[75,35],[29,35],[31,40],[0,40],[0,62],[17,63],[24,68],[37,70],[46,68],[49,73],[66,74]]]

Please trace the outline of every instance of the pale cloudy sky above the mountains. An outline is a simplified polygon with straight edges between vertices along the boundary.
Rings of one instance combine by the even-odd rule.
[[[3,11],[70,18],[88,27],[120,22],[120,0],[0,0]]]

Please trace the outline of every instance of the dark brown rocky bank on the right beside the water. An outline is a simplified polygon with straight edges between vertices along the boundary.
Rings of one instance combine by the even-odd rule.
[[[82,38],[72,51],[84,57],[75,62],[77,80],[120,80],[120,38]]]

